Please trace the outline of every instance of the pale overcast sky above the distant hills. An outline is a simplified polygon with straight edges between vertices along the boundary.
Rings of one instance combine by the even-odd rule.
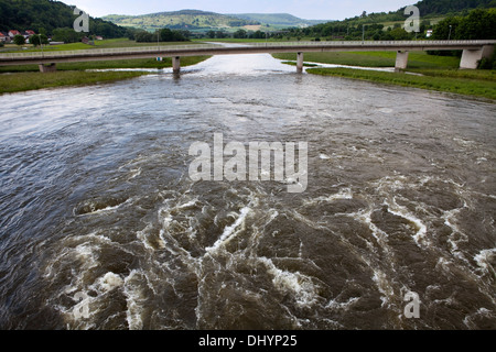
[[[89,15],[148,14],[194,9],[217,13],[291,13],[306,20],[344,20],[367,12],[396,11],[418,0],[63,0]]]

